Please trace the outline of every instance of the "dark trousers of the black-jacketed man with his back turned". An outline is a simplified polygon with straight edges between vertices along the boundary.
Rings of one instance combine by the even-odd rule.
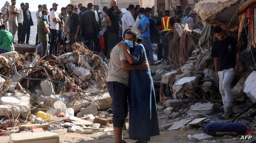
[[[94,46],[95,48],[93,49],[90,49],[90,50],[93,50],[93,51],[96,51],[96,52],[100,52],[100,40],[99,38],[97,37],[97,34],[96,33],[85,33],[83,35],[84,37],[84,40],[85,40],[85,45],[86,47],[88,47],[88,49],[90,49],[90,44],[91,44],[91,40],[94,42]],[[93,47],[93,46],[92,46]]]

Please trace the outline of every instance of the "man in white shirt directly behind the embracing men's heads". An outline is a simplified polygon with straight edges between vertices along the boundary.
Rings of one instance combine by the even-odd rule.
[[[134,18],[132,13],[134,12],[134,5],[130,4],[128,7],[128,11],[124,13],[123,17],[122,17],[122,28],[123,31],[125,31],[126,28],[128,27],[132,27],[134,29]],[[123,33],[122,33],[123,35]],[[124,38],[124,37],[123,37]]]

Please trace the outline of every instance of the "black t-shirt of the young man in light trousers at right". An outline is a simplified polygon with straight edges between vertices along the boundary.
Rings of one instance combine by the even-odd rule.
[[[236,66],[237,51],[237,41],[233,36],[227,36],[224,40],[216,40],[213,43],[211,57],[218,58],[219,71]]]

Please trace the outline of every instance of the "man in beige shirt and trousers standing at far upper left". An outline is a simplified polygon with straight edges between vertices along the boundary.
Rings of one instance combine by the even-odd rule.
[[[18,8],[15,7],[16,0],[11,0],[11,2],[12,2],[12,5],[8,6],[8,12],[9,12],[8,20],[9,20],[9,31],[12,33],[13,39],[14,39],[14,36],[18,29],[17,15],[19,15],[19,11],[18,11]]]

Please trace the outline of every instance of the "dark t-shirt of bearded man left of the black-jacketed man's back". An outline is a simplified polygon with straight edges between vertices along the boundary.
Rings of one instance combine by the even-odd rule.
[[[76,35],[77,26],[81,25],[79,15],[76,12],[73,12],[69,20],[69,35],[74,37]],[[80,33],[78,33],[80,35]]]

